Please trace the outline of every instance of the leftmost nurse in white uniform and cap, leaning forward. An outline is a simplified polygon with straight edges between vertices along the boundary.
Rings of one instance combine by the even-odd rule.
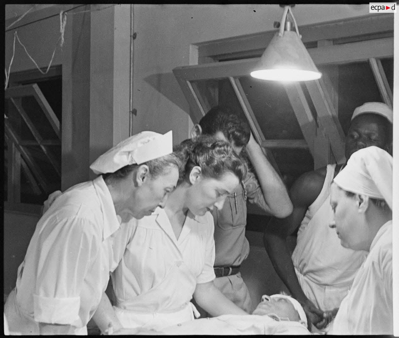
[[[91,165],[96,179],[59,196],[40,218],[4,306],[10,331],[87,334],[109,280],[111,235],[121,220],[165,205],[180,165],[172,132],[141,132]]]

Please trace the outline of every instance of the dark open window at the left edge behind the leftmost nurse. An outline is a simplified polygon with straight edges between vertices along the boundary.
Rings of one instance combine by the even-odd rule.
[[[37,212],[61,188],[61,76],[31,82],[10,82],[4,94],[4,201]]]

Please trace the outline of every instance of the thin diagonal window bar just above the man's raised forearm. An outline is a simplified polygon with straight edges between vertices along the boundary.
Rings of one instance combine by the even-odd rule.
[[[255,140],[258,142],[259,145],[261,145],[263,143],[263,141],[265,141],[265,136],[263,135],[261,126],[259,126],[259,123],[255,117],[255,114],[253,113],[251,104],[249,104],[247,95],[245,95],[243,86],[241,86],[241,82],[239,79],[234,79],[233,77],[229,77],[229,81],[231,83],[231,86],[233,86],[233,90],[240,102],[240,105],[241,105],[241,108],[243,109],[245,117],[247,118],[249,125],[251,126],[251,130],[254,133]],[[267,149],[265,147],[261,147],[261,148],[263,149],[263,153],[269,160],[270,164],[273,166],[275,171],[281,177],[282,175],[280,172],[280,168],[277,165],[277,162],[273,156],[273,153],[270,151],[270,149]]]

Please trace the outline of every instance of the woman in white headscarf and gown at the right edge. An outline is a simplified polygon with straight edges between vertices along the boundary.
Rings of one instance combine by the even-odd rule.
[[[330,204],[341,245],[368,255],[328,334],[393,334],[392,156],[375,146],[353,153]]]

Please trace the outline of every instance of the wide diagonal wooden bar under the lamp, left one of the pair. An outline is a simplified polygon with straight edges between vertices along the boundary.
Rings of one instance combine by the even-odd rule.
[[[290,100],[304,139],[308,144],[309,151],[314,157],[314,138],[316,137],[317,126],[305,94],[299,83],[284,85],[284,89],[287,93],[288,100]]]

